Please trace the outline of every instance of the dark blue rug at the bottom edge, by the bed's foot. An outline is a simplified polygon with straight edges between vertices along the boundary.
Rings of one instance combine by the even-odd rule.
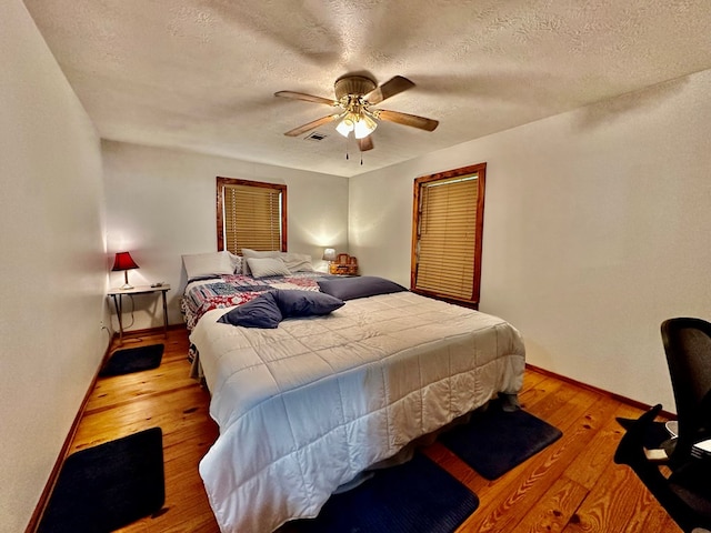
[[[334,494],[313,520],[279,533],[452,533],[479,506],[477,495],[421,453]]]

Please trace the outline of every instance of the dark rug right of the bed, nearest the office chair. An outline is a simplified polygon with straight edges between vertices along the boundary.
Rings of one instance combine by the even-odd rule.
[[[562,432],[522,409],[504,411],[499,400],[472,414],[439,441],[487,480],[495,480],[535,455]]]

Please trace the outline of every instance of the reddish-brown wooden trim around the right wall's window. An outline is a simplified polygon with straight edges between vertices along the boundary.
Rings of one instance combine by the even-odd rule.
[[[422,289],[415,289],[417,283],[417,245],[418,245],[418,224],[420,221],[420,191],[422,184],[430,183],[432,181],[448,180],[458,177],[464,177],[470,174],[477,174],[478,179],[478,198],[477,198],[477,223],[474,229],[474,257],[473,265],[473,283],[472,283],[472,296],[471,299],[452,298],[448,294],[442,294],[437,291],[427,291]],[[484,190],[487,182],[487,163],[478,163],[469,167],[462,167],[459,169],[448,170],[444,172],[438,172],[435,174],[423,175],[415,178],[413,183],[413,200],[412,200],[412,247],[410,258],[410,290],[418,294],[437,298],[452,303],[458,303],[467,306],[479,306],[479,299],[481,294],[481,252],[482,252],[482,238],[483,238],[483,220],[484,220]]]

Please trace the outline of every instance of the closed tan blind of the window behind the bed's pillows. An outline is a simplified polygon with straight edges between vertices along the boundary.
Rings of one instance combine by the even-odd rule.
[[[266,187],[226,184],[224,249],[281,250],[281,191]]]

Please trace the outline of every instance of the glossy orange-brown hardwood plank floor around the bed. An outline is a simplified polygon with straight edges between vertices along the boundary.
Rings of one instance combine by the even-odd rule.
[[[166,505],[121,531],[218,533],[198,473],[218,429],[208,413],[208,393],[188,376],[187,332],[127,336],[122,348],[158,342],[166,344],[160,368],[99,379],[71,451],[161,426]],[[520,400],[563,436],[504,476],[489,482],[440,444],[425,450],[480,499],[458,533],[681,532],[631,470],[612,462],[622,435],[614,419],[638,416],[639,409],[534,370],[525,373]]]

